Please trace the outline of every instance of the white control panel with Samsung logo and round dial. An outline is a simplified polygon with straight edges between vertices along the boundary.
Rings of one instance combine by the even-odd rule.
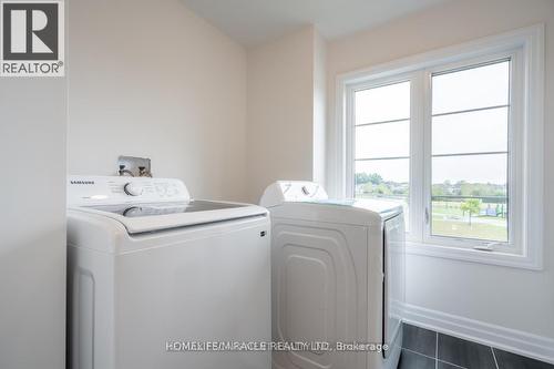
[[[70,207],[188,201],[188,189],[176,178],[83,175],[68,177]]]

